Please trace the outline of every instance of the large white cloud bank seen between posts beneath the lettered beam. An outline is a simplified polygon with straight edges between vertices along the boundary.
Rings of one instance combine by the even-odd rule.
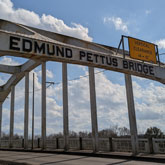
[[[30,74],[30,91],[32,91],[32,73]],[[114,125],[129,128],[128,112],[126,104],[125,86],[112,83],[104,73],[96,74],[96,95],[97,113],[99,129],[110,128]],[[0,78],[1,80],[1,78]],[[124,80],[123,80],[124,81]],[[143,80],[141,80],[143,81]],[[141,82],[140,81],[140,82]],[[152,82],[147,82],[147,87],[133,81],[135,108],[138,128],[145,131],[148,127],[157,126],[164,130],[163,118],[165,87],[156,86]],[[35,79],[35,129],[36,134],[40,134],[41,128],[41,82],[36,76]],[[91,113],[89,97],[88,77],[68,83],[69,90],[69,127],[70,130],[82,131],[91,130]],[[32,100],[32,93],[30,99]],[[9,97],[10,98],[10,97]],[[10,99],[7,99],[9,105]],[[21,122],[23,122],[24,107],[24,79],[16,87],[15,100],[15,126],[16,131],[23,132]],[[31,104],[30,104],[31,105]],[[30,121],[31,123],[31,106]],[[10,107],[5,108],[4,120],[9,120]],[[63,126],[62,108],[62,86],[61,84],[47,88],[47,133],[62,131]],[[7,129],[9,123],[3,124],[3,130]],[[17,127],[18,126],[18,127]],[[8,130],[8,129],[7,129]],[[31,133],[31,132],[29,132]]]

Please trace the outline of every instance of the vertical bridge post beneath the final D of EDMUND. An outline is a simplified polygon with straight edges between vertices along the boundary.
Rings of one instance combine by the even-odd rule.
[[[68,79],[67,63],[62,63],[62,85],[63,85],[63,132],[64,150],[69,149],[69,117],[68,117]]]

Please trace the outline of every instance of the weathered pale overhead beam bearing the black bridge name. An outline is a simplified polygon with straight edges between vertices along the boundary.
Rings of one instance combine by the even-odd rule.
[[[74,44],[78,39],[69,38],[70,42],[66,44],[39,34],[32,37],[6,31],[0,31],[0,38],[0,54],[98,67],[165,83],[165,65],[143,62],[129,56],[123,58],[121,53],[116,54],[114,48],[108,46],[81,40],[84,43],[81,47],[83,44]],[[25,42],[30,47],[26,47]]]

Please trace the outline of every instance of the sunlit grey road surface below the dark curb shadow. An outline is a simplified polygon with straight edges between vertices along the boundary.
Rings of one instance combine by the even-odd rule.
[[[0,165],[160,165],[165,163],[67,154],[0,151]]]

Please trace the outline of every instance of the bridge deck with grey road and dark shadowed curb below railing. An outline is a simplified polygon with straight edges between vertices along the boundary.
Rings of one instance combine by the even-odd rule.
[[[52,151],[52,152],[25,152],[17,151],[0,151],[0,164],[32,164],[32,165],[111,165],[111,164],[127,164],[127,165],[156,165],[165,163],[164,154],[139,154],[132,157],[131,153],[126,152],[109,152],[93,154],[90,151]]]

